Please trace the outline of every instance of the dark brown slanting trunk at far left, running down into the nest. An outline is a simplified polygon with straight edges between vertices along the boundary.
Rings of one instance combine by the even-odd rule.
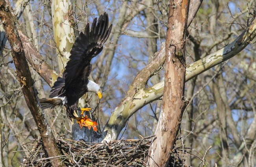
[[[11,45],[13,62],[17,71],[17,79],[20,82],[25,101],[37,124],[48,156],[58,156],[60,155],[60,151],[57,147],[54,135],[47,123],[45,113],[40,108],[37,91],[34,87],[34,81],[31,77],[31,73],[24,56],[25,53],[18,33],[19,28],[17,28],[19,22],[17,17],[12,14],[13,10],[9,2],[1,1],[0,18],[5,29],[7,39]],[[52,158],[51,160],[52,166],[63,166],[60,159]]]

